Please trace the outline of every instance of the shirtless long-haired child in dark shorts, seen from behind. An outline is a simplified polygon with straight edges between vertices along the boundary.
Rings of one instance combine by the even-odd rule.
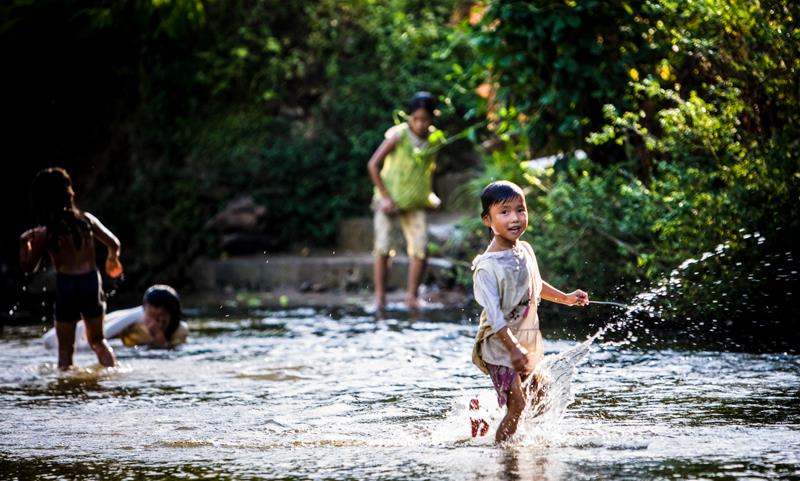
[[[75,325],[83,317],[86,339],[97,360],[106,367],[116,364],[114,351],[103,336],[105,300],[97,269],[94,240],[108,249],[106,272],[122,275],[120,243],[96,217],[75,206],[72,180],[60,167],[44,169],[33,181],[33,204],[38,227],[20,236],[20,264],[33,272],[45,253],[56,271],[55,327],[58,367],[72,365]]]

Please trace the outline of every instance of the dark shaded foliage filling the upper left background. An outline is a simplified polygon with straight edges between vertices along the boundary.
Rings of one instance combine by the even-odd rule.
[[[392,113],[417,90],[449,93],[433,53],[455,3],[13,1],[0,36],[38,77],[70,72],[51,83],[13,69],[14,111],[37,126],[49,105],[76,118],[53,121],[65,148],[41,163],[61,159],[92,187],[81,205],[123,239],[131,281],[180,282],[221,254],[204,225],[242,194],[267,208],[281,249],[330,244],[340,218],[368,212],[366,163]],[[446,130],[460,128],[458,99],[442,105]]]

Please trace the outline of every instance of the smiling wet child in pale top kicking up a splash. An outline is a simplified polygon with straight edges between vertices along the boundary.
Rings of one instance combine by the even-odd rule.
[[[495,434],[505,441],[516,431],[530,393],[523,380],[544,356],[537,305],[540,299],[585,306],[582,290],[565,294],[545,282],[533,248],[519,240],[528,227],[528,207],[520,187],[492,182],[481,193],[481,220],[492,231],[486,251],[472,262],[475,299],[483,307],[472,361],[492,378],[500,407],[506,415]]]

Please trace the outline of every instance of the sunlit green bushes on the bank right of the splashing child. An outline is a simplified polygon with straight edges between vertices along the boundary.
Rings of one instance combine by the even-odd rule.
[[[482,55],[458,78],[493,84],[478,103],[505,142],[476,187],[527,186],[557,285],[617,298],[661,285],[668,316],[789,312],[798,18],[777,1],[491,2],[462,26]],[[545,172],[524,162],[580,148],[587,159]]]

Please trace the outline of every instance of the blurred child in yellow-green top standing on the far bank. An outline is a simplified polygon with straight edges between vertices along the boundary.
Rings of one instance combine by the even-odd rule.
[[[386,304],[391,232],[398,221],[409,258],[406,303],[411,309],[420,306],[418,291],[428,247],[425,209],[440,203],[432,189],[436,155],[428,149],[428,137],[435,131],[435,110],[433,96],[417,92],[408,104],[408,122],[386,131],[383,143],[367,164],[375,184],[375,308],[379,312]]]

